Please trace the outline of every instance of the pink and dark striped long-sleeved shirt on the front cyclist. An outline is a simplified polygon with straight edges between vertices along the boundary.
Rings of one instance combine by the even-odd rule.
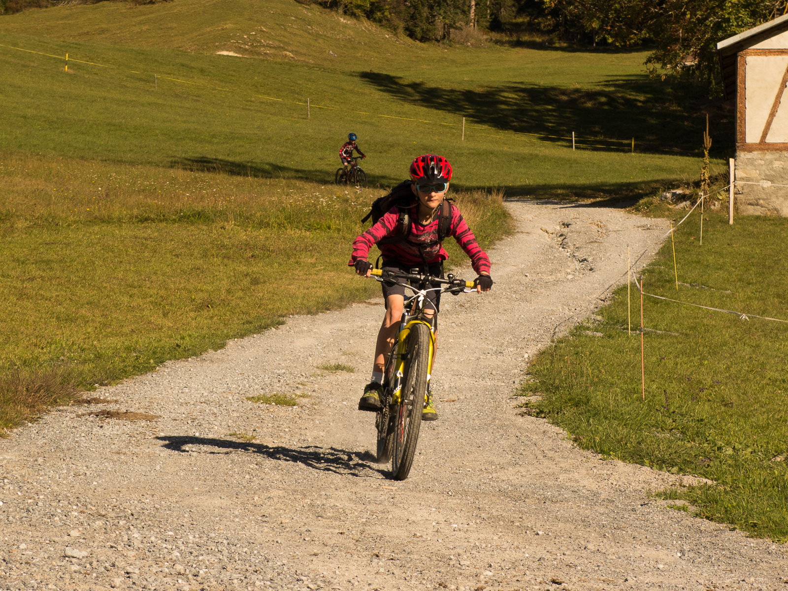
[[[459,209],[452,205],[452,224],[450,225],[449,236],[453,236],[459,246],[470,258],[470,264],[477,274],[490,272],[490,259],[485,251],[481,250],[474,232],[470,231],[463,215]],[[386,236],[393,236],[397,232],[397,225],[400,221],[400,212],[396,207],[388,210],[377,224],[357,236],[353,241],[353,254],[351,255],[348,266],[355,265],[360,259],[366,259],[370,255],[370,249],[378,241]],[[440,262],[448,259],[448,253],[444,250],[443,244],[438,242],[438,220],[435,219],[427,225],[418,222],[418,206],[411,209],[411,233],[406,240],[400,243],[384,244],[380,246],[381,253],[386,261],[403,262],[406,265],[418,266],[422,264],[422,251],[426,262]]]

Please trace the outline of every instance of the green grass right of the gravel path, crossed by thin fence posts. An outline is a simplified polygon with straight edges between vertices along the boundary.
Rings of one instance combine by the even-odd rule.
[[[644,273],[645,292],[788,320],[788,221],[707,212],[675,234],[678,290],[668,242]],[[626,270],[626,267],[623,269]],[[633,324],[639,298],[633,286]],[[640,335],[626,332],[626,286],[530,366],[540,393],[529,414],[567,429],[582,448],[713,485],[660,492],[707,519],[788,540],[788,324],[645,297],[645,401]],[[604,333],[604,337],[588,332]],[[676,333],[676,334],[673,334]],[[685,507],[678,503],[679,507]]]

